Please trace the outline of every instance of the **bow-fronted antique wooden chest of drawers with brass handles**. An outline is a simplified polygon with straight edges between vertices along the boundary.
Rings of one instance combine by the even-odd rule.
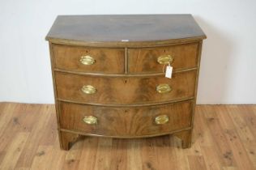
[[[164,134],[190,147],[205,38],[192,15],[58,16],[46,40],[61,148]]]

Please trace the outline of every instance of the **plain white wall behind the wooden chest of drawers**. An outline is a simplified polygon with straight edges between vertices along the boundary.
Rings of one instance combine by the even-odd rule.
[[[0,101],[53,103],[45,35],[57,15],[194,15],[207,34],[198,104],[256,104],[254,0],[0,1]]]

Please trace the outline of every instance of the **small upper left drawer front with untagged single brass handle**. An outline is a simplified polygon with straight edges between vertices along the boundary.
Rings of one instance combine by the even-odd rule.
[[[124,49],[53,45],[55,68],[92,73],[124,73]]]

